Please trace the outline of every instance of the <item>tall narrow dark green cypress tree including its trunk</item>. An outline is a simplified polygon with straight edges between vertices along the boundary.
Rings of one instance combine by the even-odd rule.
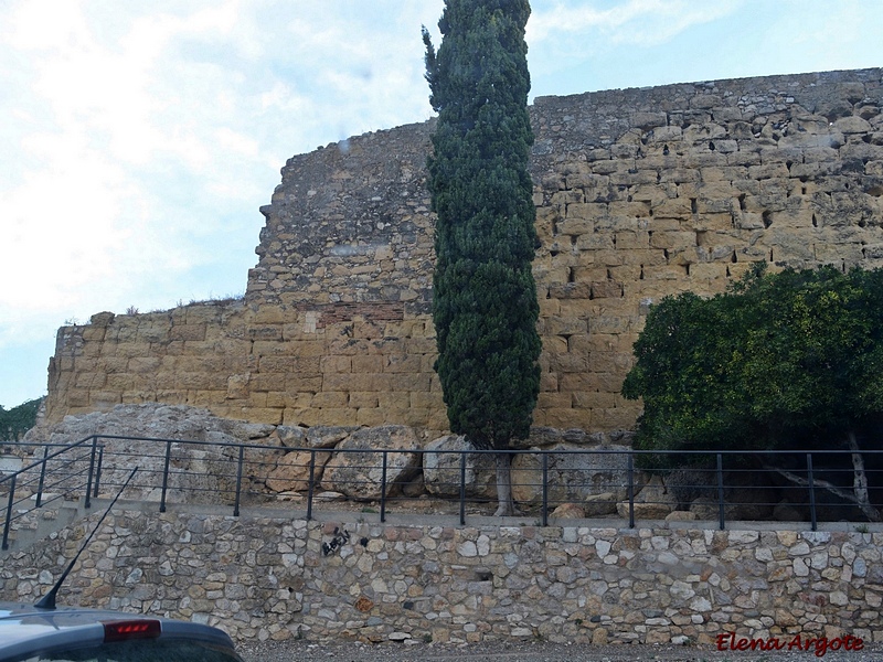
[[[530,11],[528,0],[446,0],[438,52],[423,31],[438,113],[428,160],[435,369],[451,431],[494,450],[526,438],[540,391]],[[510,458],[497,455],[499,515],[513,513]]]

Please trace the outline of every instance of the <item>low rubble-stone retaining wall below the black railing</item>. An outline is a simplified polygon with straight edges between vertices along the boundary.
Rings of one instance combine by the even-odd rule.
[[[0,599],[45,592],[98,516],[6,557]],[[60,602],[210,622],[241,641],[713,644],[735,632],[883,642],[876,525],[859,533],[488,522],[117,509]]]

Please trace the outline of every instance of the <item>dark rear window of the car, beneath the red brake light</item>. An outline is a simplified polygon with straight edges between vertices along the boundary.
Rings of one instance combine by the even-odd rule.
[[[242,662],[242,658],[199,641],[141,639],[44,652],[21,662]]]

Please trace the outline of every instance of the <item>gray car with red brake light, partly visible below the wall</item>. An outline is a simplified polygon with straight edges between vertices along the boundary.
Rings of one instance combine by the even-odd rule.
[[[0,662],[242,662],[210,626],[124,611],[0,602]]]

